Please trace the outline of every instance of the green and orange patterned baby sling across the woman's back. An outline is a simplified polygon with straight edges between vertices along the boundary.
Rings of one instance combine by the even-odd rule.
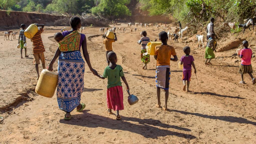
[[[59,49],[61,52],[79,50],[81,34],[77,30],[64,37],[59,42]]]

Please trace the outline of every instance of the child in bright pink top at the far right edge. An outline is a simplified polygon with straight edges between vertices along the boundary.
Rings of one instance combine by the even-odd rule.
[[[256,83],[256,79],[253,78],[252,73],[252,65],[251,65],[251,58],[252,58],[252,50],[248,48],[248,41],[243,41],[243,49],[240,51],[240,58],[241,58],[241,65],[239,67],[239,73],[241,74],[242,81],[240,81],[240,84],[245,84],[243,81],[243,74],[249,74],[252,78],[252,84],[254,85]]]

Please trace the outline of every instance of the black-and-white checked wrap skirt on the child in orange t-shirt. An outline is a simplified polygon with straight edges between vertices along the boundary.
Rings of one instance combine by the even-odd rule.
[[[170,66],[156,67],[156,87],[169,89],[170,84]]]

